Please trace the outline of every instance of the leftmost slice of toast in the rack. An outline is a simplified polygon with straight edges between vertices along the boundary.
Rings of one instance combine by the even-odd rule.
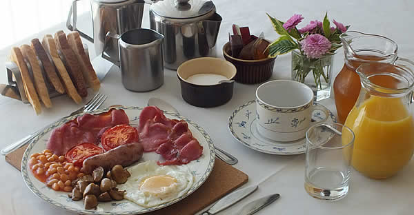
[[[11,57],[12,61],[14,61],[14,63],[17,64],[21,72],[21,79],[23,79],[23,88],[24,92],[26,93],[26,96],[28,97],[28,101],[32,104],[36,114],[39,115],[41,113],[39,97],[37,96],[37,92],[34,89],[32,78],[30,77],[28,66],[24,61],[23,54],[21,54],[19,48],[13,47]]]

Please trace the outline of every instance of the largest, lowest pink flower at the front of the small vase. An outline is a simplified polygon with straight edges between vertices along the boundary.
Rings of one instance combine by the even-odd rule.
[[[331,42],[321,34],[311,34],[299,43],[302,45],[301,50],[310,59],[322,57],[332,46]]]

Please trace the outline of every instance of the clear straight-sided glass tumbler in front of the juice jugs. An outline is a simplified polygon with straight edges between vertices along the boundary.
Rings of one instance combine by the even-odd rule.
[[[320,123],[306,132],[305,190],[311,196],[337,200],[348,194],[355,135],[345,125]]]

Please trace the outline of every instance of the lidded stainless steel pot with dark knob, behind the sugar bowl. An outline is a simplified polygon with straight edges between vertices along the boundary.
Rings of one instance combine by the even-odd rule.
[[[221,17],[210,0],[163,0],[150,7],[150,28],[164,35],[164,66],[210,55]]]

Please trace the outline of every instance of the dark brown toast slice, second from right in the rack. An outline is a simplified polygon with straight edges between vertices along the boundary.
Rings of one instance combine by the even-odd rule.
[[[75,53],[70,49],[66,34],[62,30],[56,32],[55,43],[57,49],[61,52],[66,61],[69,75],[72,78],[73,83],[75,83],[77,92],[82,97],[88,96],[88,90],[86,89],[85,80],[83,79],[81,66],[79,65]]]

